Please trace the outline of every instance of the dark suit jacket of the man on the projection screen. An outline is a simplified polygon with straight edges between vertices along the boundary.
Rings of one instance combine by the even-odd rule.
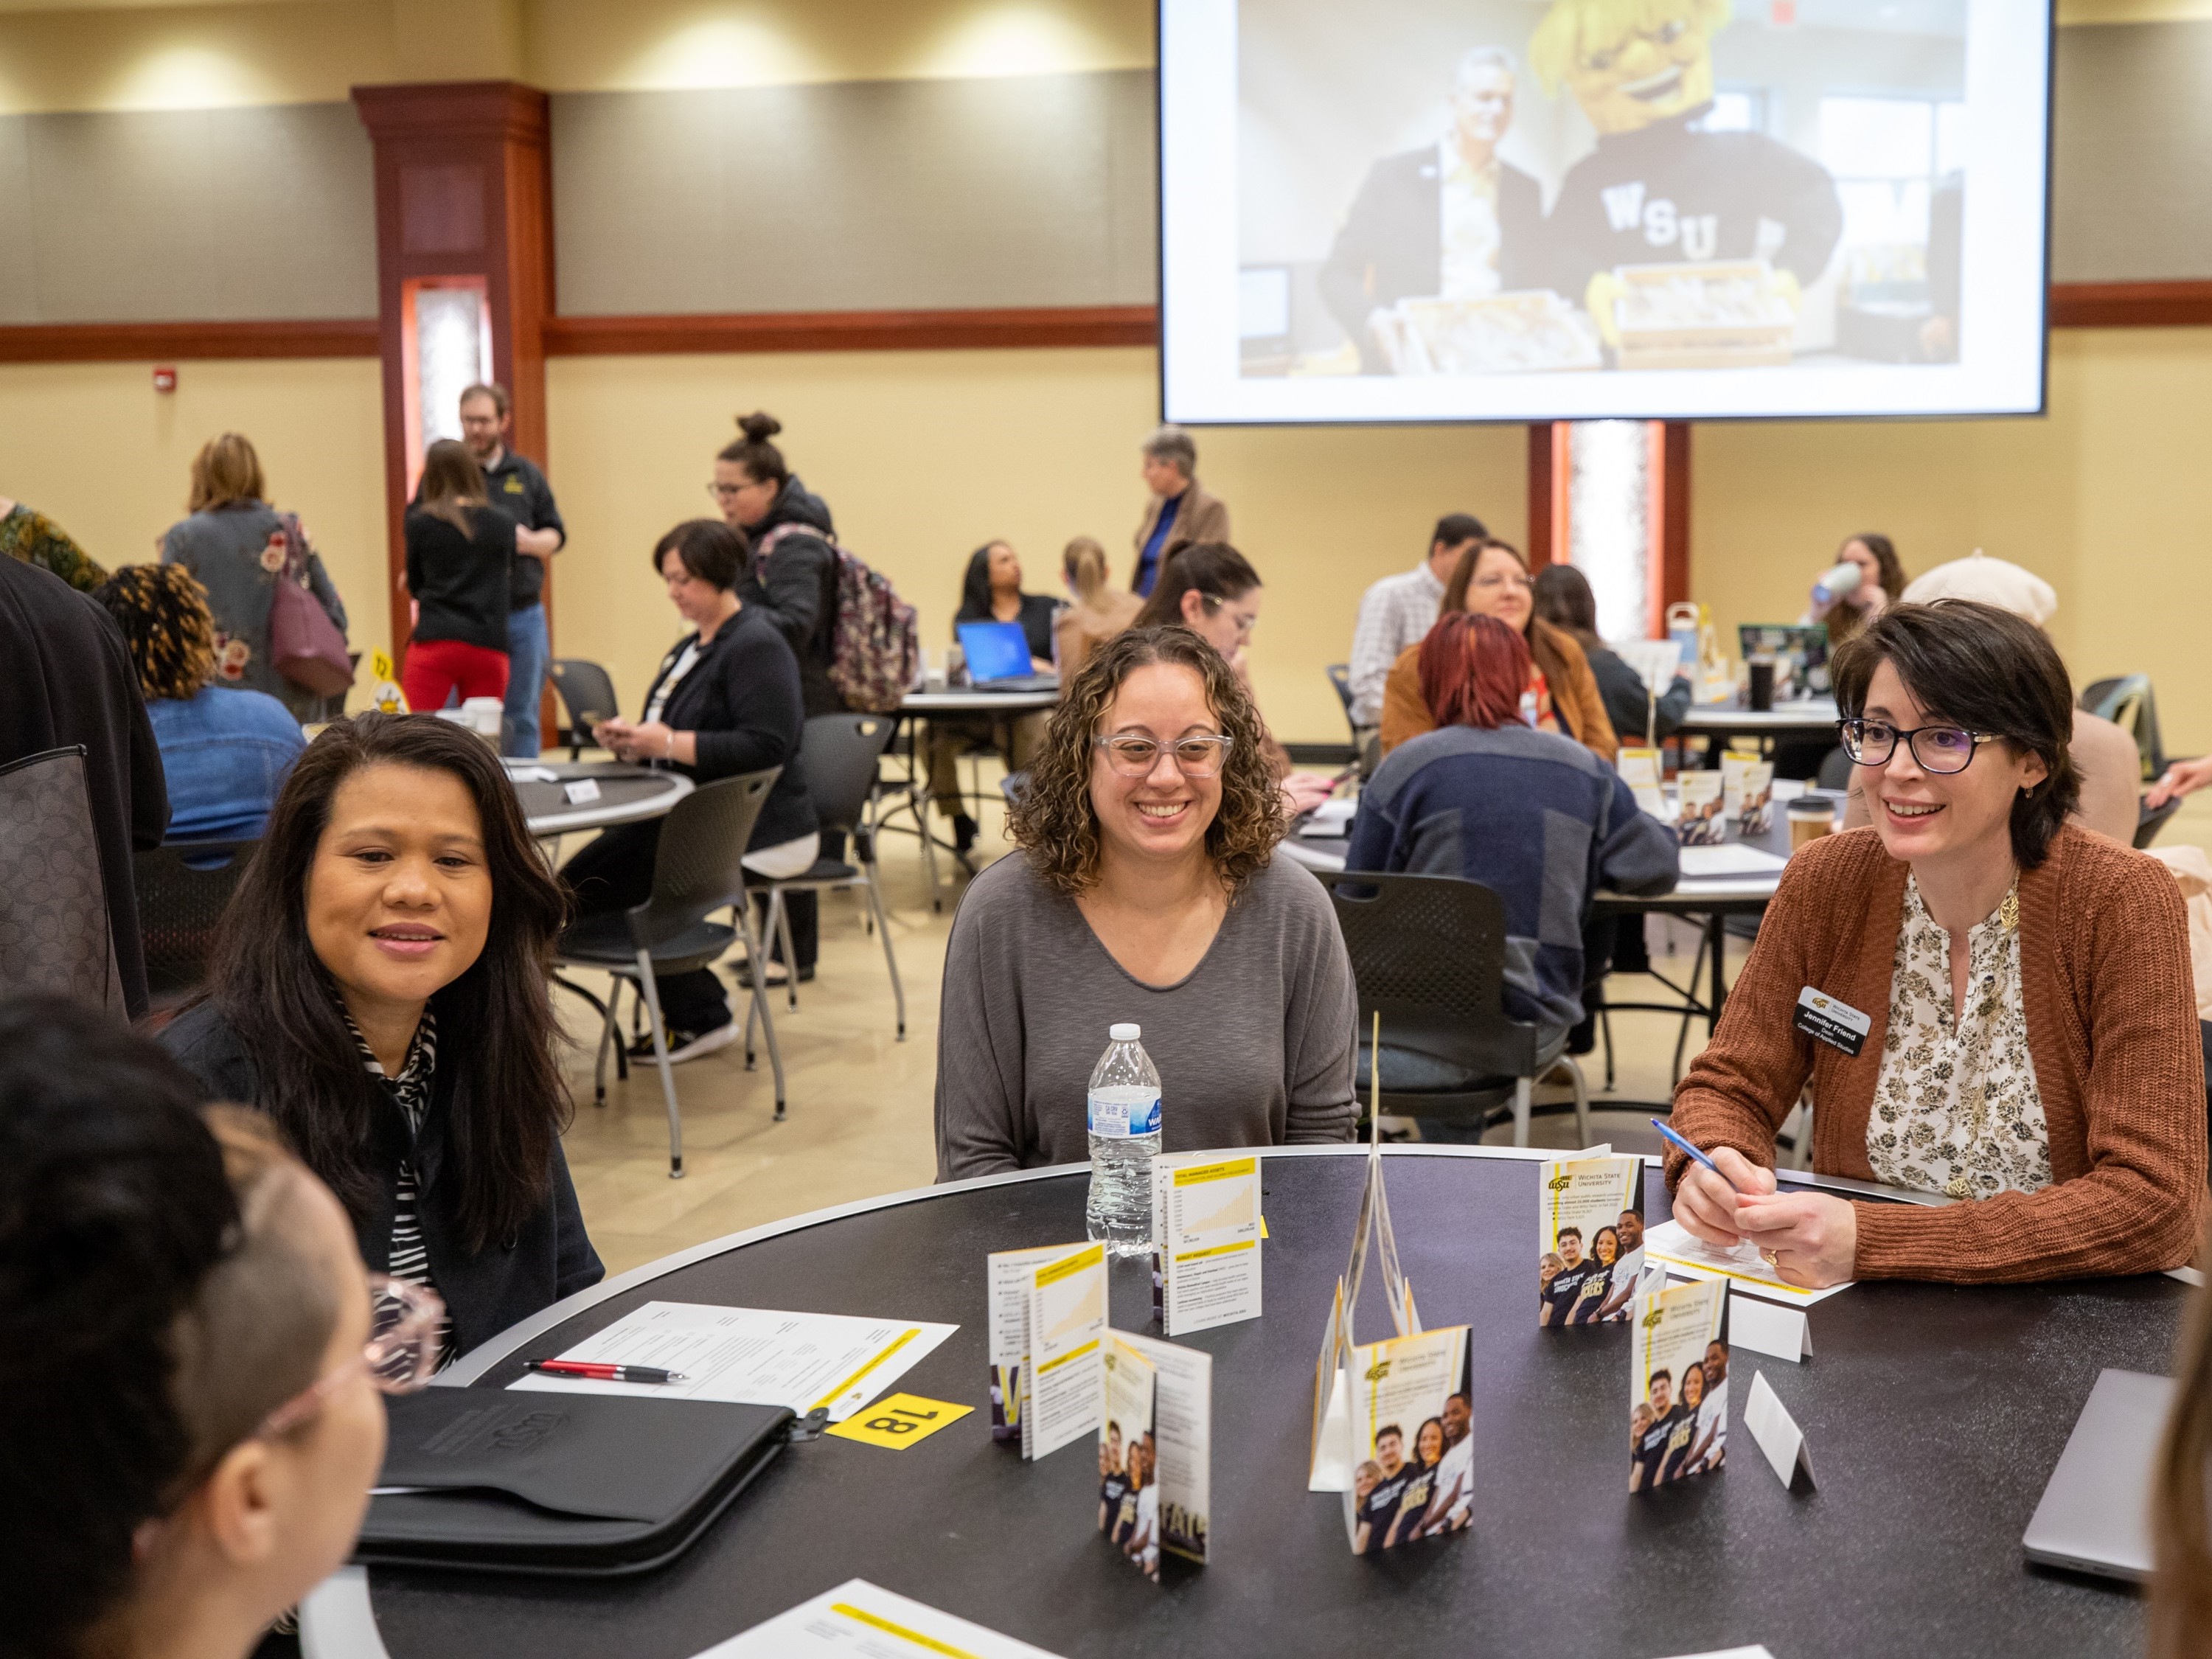
[[[1321,268],[1329,316],[1360,347],[1360,367],[1387,365],[1367,332],[1367,312],[1444,285],[1442,168],[1433,144],[1387,155],[1367,170],[1343,230]],[[1515,166],[1498,164],[1498,285],[1540,288],[1544,276],[1544,188]],[[1575,294],[1579,299],[1579,294]]]

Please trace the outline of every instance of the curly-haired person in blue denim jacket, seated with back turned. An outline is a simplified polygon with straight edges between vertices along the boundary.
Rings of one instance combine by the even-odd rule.
[[[131,646],[168,776],[170,841],[254,841],[307,748],[292,712],[246,686],[210,684],[215,615],[181,564],[126,564],[93,597]]]

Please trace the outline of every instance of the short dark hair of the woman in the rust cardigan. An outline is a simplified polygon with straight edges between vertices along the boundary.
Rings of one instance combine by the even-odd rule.
[[[2081,799],[2068,748],[2073,684],[2051,635],[1980,599],[1893,604],[1836,650],[1829,677],[1845,719],[1865,712],[1885,661],[1929,719],[1993,732],[2042,759],[2048,776],[2013,796],[2013,863],[2035,869]]]

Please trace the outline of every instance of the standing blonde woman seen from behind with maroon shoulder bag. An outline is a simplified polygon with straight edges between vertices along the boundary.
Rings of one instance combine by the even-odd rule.
[[[268,692],[301,721],[325,719],[334,712],[327,699],[294,686],[270,659],[270,606],[279,582],[301,582],[345,633],[345,604],[299,513],[279,513],[268,493],[252,442],[237,431],[210,438],[192,458],[190,518],[161,535],[161,564],[181,564],[208,591],[223,686]]]

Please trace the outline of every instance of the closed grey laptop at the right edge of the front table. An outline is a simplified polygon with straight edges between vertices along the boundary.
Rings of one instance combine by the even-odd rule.
[[[2172,1378],[2097,1374],[2020,1540],[2031,1562],[2132,1584],[2150,1577],[2150,1486],[2172,1405]]]

